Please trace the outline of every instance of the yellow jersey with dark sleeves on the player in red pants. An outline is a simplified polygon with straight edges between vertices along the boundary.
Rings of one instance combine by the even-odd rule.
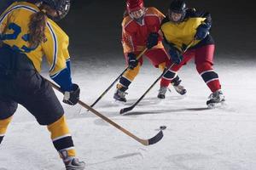
[[[166,17],[166,19],[162,21],[160,30],[168,44],[183,50],[184,46],[187,46],[190,42],[192,42],[195,37],[197,27],[203,23],[211,25],[211,15],[209,13],[195,11],[193,8],[187,10],[182,22],[173,23]],[[208,35],[201,41],[195,41],[191,48],[212,43],[214,43],[213,39],[210,35]]]

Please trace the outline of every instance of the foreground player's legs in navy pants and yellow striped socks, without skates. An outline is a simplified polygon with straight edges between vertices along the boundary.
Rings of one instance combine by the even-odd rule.
[[[26,54],[3,47],[0,48],[0,142],[18,104],[32,113],[40,125],[48,127],[62,158],[75,156],[63,107],[51,85],[35,70]]]

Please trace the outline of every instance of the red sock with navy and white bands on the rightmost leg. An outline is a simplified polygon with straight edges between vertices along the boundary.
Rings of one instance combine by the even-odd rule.
[[[216,92],[221,88],[218,80],[218,74],[213,71],[212,64],[209,62],[201,63],[201,65],[196,65],[196,70],[199,72],[202,79],[207,83],[208,88],[210,88],[212,92]]]

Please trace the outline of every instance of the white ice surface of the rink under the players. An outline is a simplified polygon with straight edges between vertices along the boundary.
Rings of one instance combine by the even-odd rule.
[[[222,108],[207,109],[210,91],[195,71],[193,61],[179,72],[188,90],[184,97],[171,88],[172,93],[160,101],[156,99],[157,84],[129,116],[120,116],[119,110],[128,105],[113,101],[113,87],[95,106],[102,115],[142,139],[153,137],[165,125],[164,138],[154,145],[143,146],[79,105],[63,104],[86,170],[256,169],[256,62],[242,57],[216,57],[214,68],[226,97]],[[73,61],[73,81],[79,83],[81,100],[88,105],[125,68],[122,57],[96,63],[92,60]],[[146,62],[128,90],[127,103],[135,102],[159,75],[160,71]],[[61,94],[56,94],[62,99]],[[19,105],[0,146],[0,170],[35,169],[64,167],[46,127],[40,127]]]

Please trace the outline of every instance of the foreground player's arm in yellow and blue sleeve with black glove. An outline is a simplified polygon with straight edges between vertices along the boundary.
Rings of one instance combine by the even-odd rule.
[[[61,37],[60,40],[58,39],[60,35],[54,34],[54,31],[51,33],[48,34],[47,42],[43,44],[44,54],[50,65],[49,77],[60,85],[64,92],[63,102],[68,105],[75,105],[79,101],[80,90],[71,78],[71,60],[67,50],[68,37],[66,40]]]

